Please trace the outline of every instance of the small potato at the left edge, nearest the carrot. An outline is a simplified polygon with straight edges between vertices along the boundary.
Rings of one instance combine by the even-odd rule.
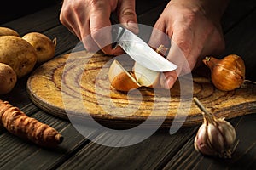
[[[12,67],[0,63],[0,94],[8,94],[17,82],[17,75]]]

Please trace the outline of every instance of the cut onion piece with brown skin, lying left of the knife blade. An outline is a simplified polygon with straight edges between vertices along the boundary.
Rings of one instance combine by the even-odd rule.
[[[108,79],[113,88],[119,91],[128,92],[131,89],[141,87],[137,80],[116,59],[109,67]]]

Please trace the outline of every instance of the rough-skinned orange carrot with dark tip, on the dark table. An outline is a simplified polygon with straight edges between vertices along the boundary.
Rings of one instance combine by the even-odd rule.
[[[55,147],[61,144],[63,140],[63,137],[55,128],[26,116],[18,107],[1,99],[0,125],[5,127],[9,133],[44,147]]]

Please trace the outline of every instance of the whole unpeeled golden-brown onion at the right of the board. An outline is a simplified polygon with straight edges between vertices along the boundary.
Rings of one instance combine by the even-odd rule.
[[[207,57],[203,63],[211,70],[212,83],[219,90],[240,88],[245,81],[245,65],[236,54],[227,55],[223,59]]]

